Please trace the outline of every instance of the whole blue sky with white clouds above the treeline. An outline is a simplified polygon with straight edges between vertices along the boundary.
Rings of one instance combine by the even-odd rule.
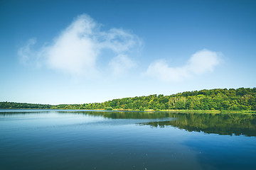
[[[256,84],[256,1],[0,0],[0,101]]]

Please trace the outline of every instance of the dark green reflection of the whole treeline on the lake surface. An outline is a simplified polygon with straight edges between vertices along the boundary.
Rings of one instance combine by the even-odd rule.
[[[50,113],[45,111],[43,113]],[[122,112],[122,111],[56,111],[59,114],[74,113],[100,116],[112,119],[152,119],[152,122],[140,123],[152,127],[173,126],[194,132],[215,133],[219,135],[256,136],[256,115],[250,114],[201,114],[201,113],[165,113],[165,112]],[[1,112],[1,115],[29,114],[42,112]],[[176,118],[169,121],[156,119]]]

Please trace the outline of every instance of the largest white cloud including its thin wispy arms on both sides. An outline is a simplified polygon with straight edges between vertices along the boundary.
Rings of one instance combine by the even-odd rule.
[[[104,49],[111,50],[117,56],[126,56],[125,60],[129,61],[127,54],[141,45],[137,35],[117,28],[101,31],[101,26],[90,16],[83,14],[54,38],[50,45],[33,51],[31,45],[36,41],[29,40],[27,45],[18,50],[18,55],[24,61],[40,57],[51,69],[76,75],[91,75],[97,72],[97,58]],[[110,66],[115,70],[117,63]]]

